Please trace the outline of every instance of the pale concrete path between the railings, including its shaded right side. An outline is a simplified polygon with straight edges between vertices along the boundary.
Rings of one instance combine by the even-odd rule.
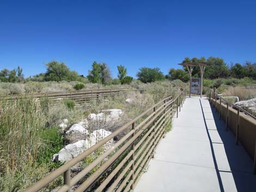
[[[187,98],[135,192],[256,191],[253,160],[206,98]]]

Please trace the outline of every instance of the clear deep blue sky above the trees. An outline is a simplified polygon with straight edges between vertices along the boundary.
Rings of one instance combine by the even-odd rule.
[[[94,60],[135,77],[185,57],[256,61],[256,1],[0,1],[0,70],[25,76],[64,61],[87,75]]]

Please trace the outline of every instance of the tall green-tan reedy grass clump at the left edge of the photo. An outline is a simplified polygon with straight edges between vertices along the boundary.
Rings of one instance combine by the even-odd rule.
[[[15,172],[23,163],[33,164],[40,146],[39,132],[45,119],[34,98],[0,101],[0,170]]]

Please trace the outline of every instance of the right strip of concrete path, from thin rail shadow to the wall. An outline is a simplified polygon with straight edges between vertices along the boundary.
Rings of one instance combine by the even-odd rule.
[[[235,136],[226,130],[225,122],[209,101],[200,99],[206,132],[221,191],[256,191],[253,160],[241,144],[235,145]]]

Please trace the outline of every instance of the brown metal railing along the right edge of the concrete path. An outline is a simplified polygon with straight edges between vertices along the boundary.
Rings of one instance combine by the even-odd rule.
[[[219,113],[220,113],[220,119],[222,114],[222,104],[226,104],[226,114],[225,114],[225,123],[226,123],[226,130],[228,131],[228,122],[229,122],[229,108],[233,108],[236,110],[236,131],[235,131],[235,144],[238,145],[239,143],[239,122],[240,122],[240,112],[242,112],[245,115],[248,115],[249,117],[252,117],[253,120],[256,120],[256,117],[252,115],[251,113],[247,112],[245,109],[236,106],[233,103],[228,102],[223,98],[222,96],[217,94],[216,88],[214,90],[211,90],[210,88],[206,90],[206,97],[209,99],[210,103],[212,103],[212,106],[215,106],[215,113],[217,112],[217,100],[220,100],[220,103],[218,103],[219,107]],[[255,127],[256,128],[256,127]],[[254,164],[253,164],[253,174],[256,175],[256,140],[255,140],[255,148],[254,148]]]

